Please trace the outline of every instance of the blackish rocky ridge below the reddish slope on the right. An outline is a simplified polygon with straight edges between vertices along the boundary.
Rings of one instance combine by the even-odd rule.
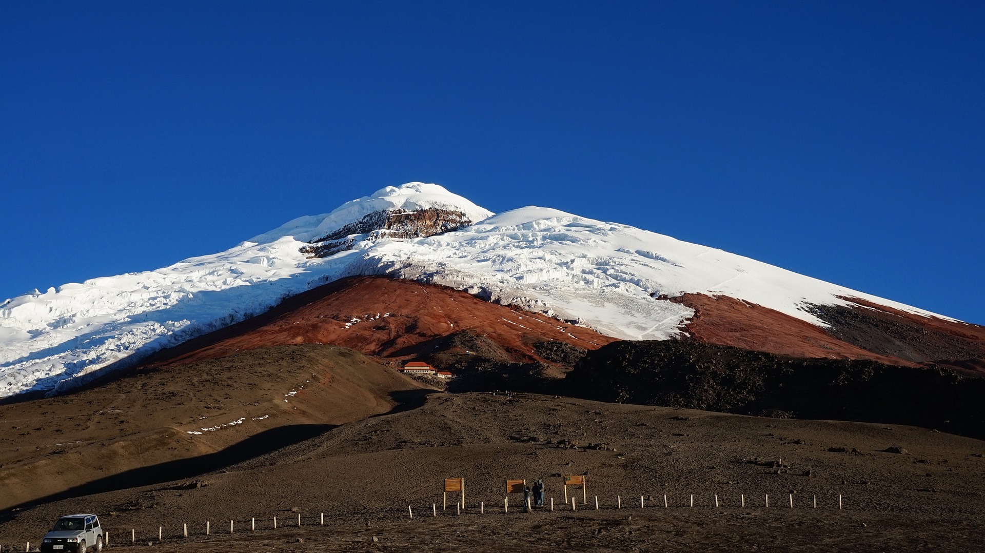
[[[689,340],[589,351],[570,395],[785,418],[904,424],[985,438],[985,380],[940,367],[805,359]]]

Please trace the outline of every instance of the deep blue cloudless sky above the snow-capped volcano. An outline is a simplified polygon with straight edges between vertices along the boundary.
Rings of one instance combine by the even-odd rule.
[[[985,323],[980,1],[0,13],[0,300],[423,180]]]

